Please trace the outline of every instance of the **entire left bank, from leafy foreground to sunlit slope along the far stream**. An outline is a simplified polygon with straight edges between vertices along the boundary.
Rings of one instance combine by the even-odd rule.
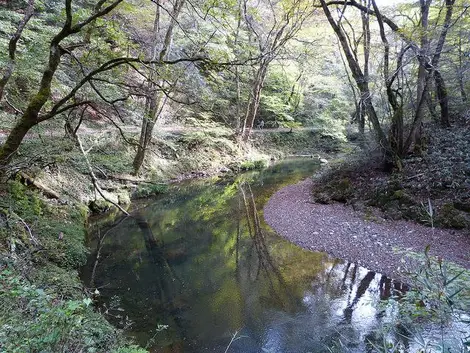
[[[132,148],[116,132],[84,133],[95,182],[108,200],[127,209],[132,198],[164,192],[171,182],[263,168],[285,154],[323,151],[316,145],[321,132],[310,130],[273,131],[272,136],[266,131],[257,134],[264,142],[255,137],[244,148],[218,127],[161,133],[165,136],[152,145],[139,177],[130,174]],[[29,136],[15,165],[22,172],[0,188],[0,347],[145,352],[129,345],[105,313],[95,312],[99,293],[84,288],[78,277],[88,254],[87,219],[92,211],[113,205],[94,191],[74,141],[60,130]]]

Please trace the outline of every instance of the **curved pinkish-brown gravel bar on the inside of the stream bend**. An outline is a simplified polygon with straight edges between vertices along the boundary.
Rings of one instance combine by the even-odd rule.
[[[311,201],[311,179],[275,193],[264,208],[266,222],[293,243],[358,263],[398,278],[402,255],[394,249],[431,254],[470,269],[470,235],[462,231],[431,229],[409,221],[366,221],[343,204]]]

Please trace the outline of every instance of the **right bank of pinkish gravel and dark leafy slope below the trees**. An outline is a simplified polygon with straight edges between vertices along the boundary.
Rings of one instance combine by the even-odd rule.
[[[353,158],[280,190],[266,221],[302,247],[395,277],[403,276],[404,253],[428,245],[470,268],[469,120],[427,131],[427,151],[404,159],[401,172]]]

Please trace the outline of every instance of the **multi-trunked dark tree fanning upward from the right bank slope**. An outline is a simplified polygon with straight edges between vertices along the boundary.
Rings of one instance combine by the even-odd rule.
[[[335,31],[338,39],[341,43],[341,47],[346,57],[349,69],[351,70],[352,76],[356,82],[356,85],[359,88],[361,97],[366,108],[367,116],[372,122],[374,127],[375,134],[377,136],[377,141],[383,151],[385,152],[386,160],[393,159],[394,164],[400,167],[399,159],[408,153],[410,147],[413,144],[419,144],[419,128],[424,118],[424,108],[426,103],[430,102],[429,98],[429,85],[430,80],[433,79],[436,86],[436,95],[440,104],[441,111],[441,124],[443,126],[449,126],[449,109],[448,109],[448,97],[447,89],[444,82],[444,78],[439,70],[439,61],[443,51],[443,46],[447,36],[447,32],[451,25],[452,12],[453,12],[453,0],[446,0],[444,5],[445,18],[442,23],[439,23],[439,20],[436,20],[437,24],[441,24],[440,33],[438,39],[435,43],[434,49],[431,50],[432,42],[429,39],[428,31],[428,17],[429,17],[429,8],[431,5],[431,0],[421,0],[420,1],[420,41],[419,44],[413,39],[412,35],[403,28],[397,26],[392,20],[384,16],[374,0],[372,0],[372,9],[368,6],[365,6],[363,3],[359,3],[356,0],[351,1],[330,1],[326,2],[321,0],[321,6],[325,12],[325,15]],[[388,103],[391,107],[392,114],[390,119],[390,134],[389,138],[386,137],[384,132],[384,127],[380,123],[376,109],[374,108],[372,99],[367,97],[371,96],[371,91],[369,88],[369,78],[365,75],[364,71],[361,70],[357,56],[355,55],[351,41],[348,40],[344,28],[340,25],[340,21],[337,21],[333,18],[329,6],[340,5],[344,8],[346,6],[352,6],[359,9],[362,14],[373,15],[377,19],[377,23],[380,29],[380,38],[383,45],[383,78],[385,82],[385,91],[388,98]],[[344,9],[343,9],[344,12]],[[362,15],[364,16],[364,15]],[[363,24],[364,24],[364,17]],[[396,69],[391,71],[390,61],[390,42],[387,38],[387,33],[385,25],[388,27],[400,38],[404,45],[395,55]],[[367,27],[364,27],[364,32],[367,32]],[[367,34],[366,34],[367,35]],[[366,51],[366,50],[365,50]],[[414,117],[412,118],[409,131],[406,134],[404,131],[404,86],[403,82],[400,81],[400,73],[403,73],[404,70],[404,58],[407,55],[407,52],[412,51],[419,63],[419,70],[417,76],[417,98],[416,98],[416,109]],[[428,104],[432,108],[431,104]],[[406,136],[405,136],[406,135]],[[388,155],[388,157],[387,157]]]

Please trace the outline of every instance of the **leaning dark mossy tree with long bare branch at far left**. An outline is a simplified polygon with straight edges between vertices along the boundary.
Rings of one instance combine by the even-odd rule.
[[[93,61],[87,58],[90,63],[89,66],[84,66],[80,59],[74,54],[78,48],[83,48],[89,44],[87,41],[76,41],[79,34],[85,38],[89,38],[90,32],[84,31],[90,29],[97,20],[102,19],[107,14],[117,8],[118,5],[123,3],[124,0],[98,0],[91,8],[91,14],[85,18],[83,13],[74,14],[72,7],[72,0],[64,0],[65,5],[65,20],[59,32],[55,34],[49,42],[49,56],[45,63],[45,68],[41,73],[39,87],[28,99],[25,110],[21,113],[18,121],[7,136],[6,141],[0,146],[0,174],[5,174],[7,167],[11,162],[14,154],[21,145],[24,137],[30,129],[42,122],[50,120],[56,116],[64,114],[77,107],[84,107],[93,103],[93,100],[98,98],[107,104],[113,104],[118,101],[127,99],[117,98],[113,100],[107,99],[99,89],[97,89],[96,81],[109,82],[109,79],[103,79],[100,75],[109,73],[116,70],[122,65],[129,65],[132,69],[140,71],[138,65],[154,64],[157,66],[173,65],[180,62],[196,62],[204,61],[206,58],[179,58],[175,60],[164,60],[158,58],[157,60],[144,60],[138,56],[124,55],[120,56],[121,51],[113,52],[111,58],[98,57]],[[86,33],[84,33],[86,32]],[[110,44],[112,45],[112,43]],[[76,62],[79,67],[75,85],[70,87],[61,98],[51,99],[51,92],[53,83],[57,75],[57,71],[64,56],[70,57],[72,62]],[[107,59],[107,60],[106,60]],[[80,96],[79,93],[85,87],[91,87],[95,93],[94,97],[86,98],[86,95]]]

